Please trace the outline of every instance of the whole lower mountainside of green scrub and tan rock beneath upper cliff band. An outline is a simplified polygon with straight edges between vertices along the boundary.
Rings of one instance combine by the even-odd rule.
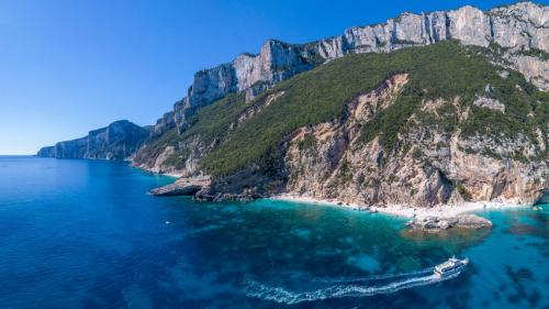
[[[209,175],[201,199],[533,202],[549,184],[549,97],[498,52],[449,41],[347,55],[197,109],[134,164],[181,173],[179,191]]]

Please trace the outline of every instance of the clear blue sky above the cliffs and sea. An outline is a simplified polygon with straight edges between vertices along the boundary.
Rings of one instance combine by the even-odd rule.
[[[305,43],[404,11],[513,2],[0,0],[0,154],[34,154],[120,119],[154,124],[194,71],[268,38]]]

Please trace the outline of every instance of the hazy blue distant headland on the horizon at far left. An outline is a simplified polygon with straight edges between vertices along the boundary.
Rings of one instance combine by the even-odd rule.
[[[120,120],[105,128],[90,131],[85,137],[43,147],[37,156],[123,159],[135,153],[148,135],[149,128]]]

